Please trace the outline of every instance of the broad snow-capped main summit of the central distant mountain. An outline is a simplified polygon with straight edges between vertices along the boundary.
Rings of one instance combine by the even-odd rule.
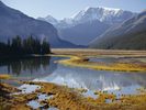
[[[99,20],[101,22],[119,23],[124,19],[131,16],[132,14],[133,14],[132,12],[124,11],[121,9],[104,8],[104,7],[98,7],[98,8],[87,7],[86,9],[74,14],[71,19],[76,22],[88,22],[88,21]]]

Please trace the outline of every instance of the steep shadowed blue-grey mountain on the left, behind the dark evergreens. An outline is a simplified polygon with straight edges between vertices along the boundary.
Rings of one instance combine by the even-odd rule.
[[[59,38],[57,30],[50,23],[30,18],[0,1],[0,42],[7,42],[15,35],[22,38],[33,35],[41,41],[46,38],[52,47],[76,46]]]

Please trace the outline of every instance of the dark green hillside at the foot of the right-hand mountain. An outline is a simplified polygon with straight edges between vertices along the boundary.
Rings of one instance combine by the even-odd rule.
[[[138,32],[112,38],[108,37],[93,45],[93,47],[105,50],[146,50],[146,32]]]

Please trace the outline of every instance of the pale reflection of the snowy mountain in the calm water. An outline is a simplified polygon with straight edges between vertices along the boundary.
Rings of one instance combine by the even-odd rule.
[[[100,72],[58,65],[48,77],[41,80],[89,90],[117,90],[125,87],[146,87],[146,74]]]

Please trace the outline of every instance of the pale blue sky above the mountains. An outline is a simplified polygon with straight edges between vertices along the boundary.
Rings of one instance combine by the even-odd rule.
[[[56,19],[69,18],[86,7],[108,7],[139,12],[146,0],[1,0],[7,6],[37,18],[50,14]]]

